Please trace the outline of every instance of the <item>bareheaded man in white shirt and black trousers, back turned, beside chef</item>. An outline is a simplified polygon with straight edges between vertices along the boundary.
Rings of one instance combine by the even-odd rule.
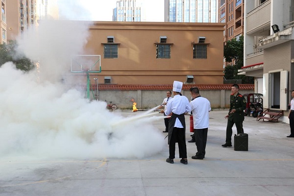
[[[192,156],[192,159],[203,159],[205,157],[209,112],[211,107],[209,100],[200,96],[197,87],[193,87],[190,93],[194,98],[193,101],[190,102],[190,105],[193,113],[194,134],[197,147],[196,155]]]

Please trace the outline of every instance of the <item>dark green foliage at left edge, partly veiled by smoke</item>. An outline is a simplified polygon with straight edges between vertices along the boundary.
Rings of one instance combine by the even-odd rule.
[[[18,58],[16,48],[17,43],[15,41],[10,41],[7,45],[0,44],[0,67],[4,63],[13,62],[19,70],[32,70],[34,68],[32,61],[26,57]]]

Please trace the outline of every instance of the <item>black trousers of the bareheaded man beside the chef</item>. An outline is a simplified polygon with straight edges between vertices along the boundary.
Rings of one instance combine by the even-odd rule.
[[[196,139],[196,147],[197,147],[196,155],[201,156],[203,158],[205,156],[207,132],[208,132],[208,128],[194,129],[194,134],[195,134],[195,139]]]

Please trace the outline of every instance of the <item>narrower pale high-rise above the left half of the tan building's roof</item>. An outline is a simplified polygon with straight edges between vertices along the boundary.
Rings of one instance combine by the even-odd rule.
[[[113,21],[140,22],[141,7],[136,5],[136,0],[118,0],[113,9]]]

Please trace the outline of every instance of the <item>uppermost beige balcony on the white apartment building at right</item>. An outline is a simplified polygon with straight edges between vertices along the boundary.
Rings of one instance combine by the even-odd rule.
[[[246,34],[255,36],[268,35],[268,30],[270,30],[270,1],[263,3],[251,10],[247,14],[246,20]]]

